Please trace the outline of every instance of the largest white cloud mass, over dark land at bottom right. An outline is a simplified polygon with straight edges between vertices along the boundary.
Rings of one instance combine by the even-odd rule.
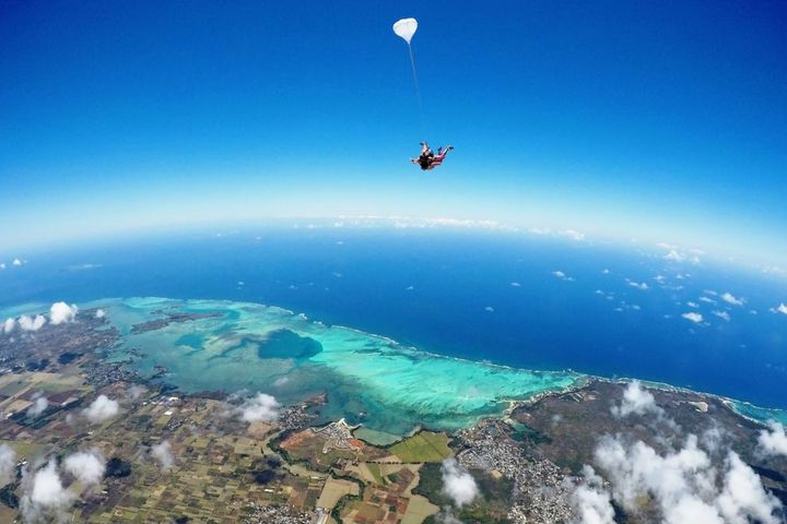
[[[643,497],[654,500],[663,524],[777,524],[778,500],[767,493],[757,475],[735,452],[721,471],[690,434],[680,450],[663,455],[642,441],[624,442],[607,436],[595,460],[608,476],[612,496],[636,513]]]

